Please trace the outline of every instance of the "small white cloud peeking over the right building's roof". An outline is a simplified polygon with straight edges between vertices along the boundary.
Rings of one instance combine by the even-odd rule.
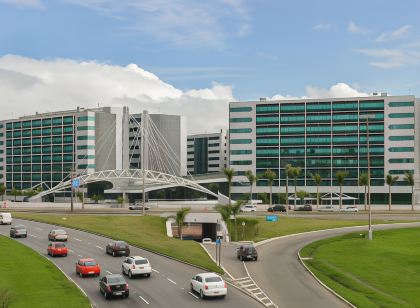
[[[365,97],[369,96],[368,93],[360,92],[359,90],[349,86],[346,83],[339,82],[332,85],[329,89],[319,88],[315,86],[305,87],[306,95],[300,97],[304,98],[340,98],[340,97]],[[291,100],[298,99],[299,97],[291,95],[274,95],[271,99],[273,100]]]

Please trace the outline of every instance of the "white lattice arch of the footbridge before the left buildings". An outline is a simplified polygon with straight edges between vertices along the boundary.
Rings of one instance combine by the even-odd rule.
[[[211,190],[197,184],[194,181],[178,177],[175,175],[152,171],[152,170],[142,170],[142,169],[124,169],[124,170],[105,170],[105,171],[98,171],[91,174],[80,175],[75,179],[79,179],[80,185],[86,185],[89,183],[94,182],[101,182],[101,181],[116,181],[116,180],[134,180],[134,181],[143,181],[143,177],[145,179],[145,187],[146,191],[151,191],[159,188],[167,188],[167,187],[187,187],[197,191],[201,191],[203,193],[212,195],[214,197],[219,197],[218,194],[212,192]],[[54,192],[60,192],[67,188],[71,187],[71,180],[67,180],[65,182],[61,182],[57,186],[43,191],[38,195],[30,198],[30,200],[38,199],[43,196],[49,195]]]

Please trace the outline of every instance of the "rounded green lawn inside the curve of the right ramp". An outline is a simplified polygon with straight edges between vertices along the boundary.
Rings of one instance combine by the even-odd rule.
[[[352,233],[306,246],[305,263],[357,307],[420,307],[420,228]]]

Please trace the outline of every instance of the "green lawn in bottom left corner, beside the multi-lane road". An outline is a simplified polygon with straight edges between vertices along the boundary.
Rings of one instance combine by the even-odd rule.
[[[50,261],[0,236],[0,307],[90,307],[89,300]],[[5,293],[10,306],[4,305]]]

